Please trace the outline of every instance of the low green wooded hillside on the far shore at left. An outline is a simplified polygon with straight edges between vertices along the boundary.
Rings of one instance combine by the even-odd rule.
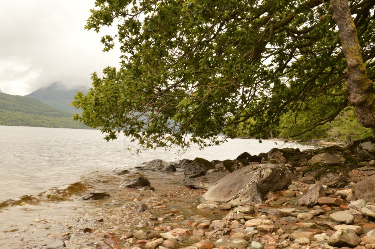
[[[33,98],[0,93],[0,125],[88,129],[72,114]]]

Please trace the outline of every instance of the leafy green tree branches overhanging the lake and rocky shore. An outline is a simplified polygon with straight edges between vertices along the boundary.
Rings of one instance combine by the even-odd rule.
[[[345,88],[353,71],[343,73],[347,63],[326,4],[96,0],[86,29],[99,32],[118,22],[117,34],[104,36],[102,43],[104,51],[120,45],[121,66],[107,67],[102,78],[93,73],[90,92],[75,98],[74,105],[83,109],[75,119],[101,127],[107,140],[123,132],[143,148],[184,148],[190,142],[217,145],[236,136],[239,126],[265,139],[280,117],[288,114],[293,120],[301,110],[314,115],[305,131],[332,121],[350,103],[357,115],[366,106],[371,118],[371,97],[359,105],[348,101],[352,90],[364,88]],[[364,91],[372,93],[374,5],[371,0],[351,0],[349,5],[366,65],[359,78],[367,69]],[[346,32],[340,24],[339,30]],[[352,32],[348,40],[353,37]],[[355,53],[358,59],[358,49]]]

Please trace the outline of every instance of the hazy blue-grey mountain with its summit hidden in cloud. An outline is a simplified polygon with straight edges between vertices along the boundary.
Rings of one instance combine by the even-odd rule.
[[[75,109],[71,106],[71,103],[77,92],[84,92],[86,94],[88,91],[89,90],[85,88],[67,90],[59,83],[53,83],[50,86],[37,89],[24,97],[34,98],[42,103],[49,104],[50,106],[65,110],[69,113],[82,113],[82,110]]]

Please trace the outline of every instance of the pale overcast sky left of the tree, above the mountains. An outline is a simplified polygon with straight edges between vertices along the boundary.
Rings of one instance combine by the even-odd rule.
[[[102,52],[114,28],[84,29],[94,0],[0,0],[0,89],[26,95],[60,82],[91,85],[90,75],[118,66],[118,49]]]

